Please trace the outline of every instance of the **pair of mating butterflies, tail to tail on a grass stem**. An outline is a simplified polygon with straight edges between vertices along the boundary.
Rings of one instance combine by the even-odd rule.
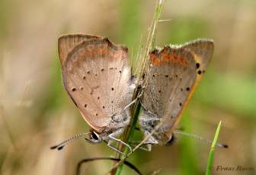
[[[158,123],[161,126],[149,137],[149,150],[153,144],[171,141],[172,131],[212,55],[212,40],[165,46],[150,53],[145,69],[148,82],[139,97],[144,109],[139,124],[145,135]],[[107,145],[115,151],[113,141],[130,148],[115,138],[129,125],[130,105],[136,101],[132,101],[136,78],[130,72],[126,46],[115,45],[104,37],[63,35],[59,37],[59,59],[64,88],[92,129],[52,148],[61,149],[85,134],[91,143],[109,140]]]

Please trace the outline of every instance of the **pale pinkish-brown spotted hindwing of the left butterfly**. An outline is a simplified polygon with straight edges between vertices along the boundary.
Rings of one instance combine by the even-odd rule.
[[[76,41],[72,39],[69,46],[62,48],[67,50]],[[62,63],[67,93],[86,122],[98,132],[113,128],[117,120],[125,120],[120,113],[133,96],[127,59],[125,46],[116,46],[107,38],[91,37],[78,42]]]

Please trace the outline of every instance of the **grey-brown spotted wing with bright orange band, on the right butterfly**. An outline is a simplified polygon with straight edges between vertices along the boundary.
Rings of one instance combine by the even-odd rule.
[[[208,61],[202,58],[206,53],[200,51],[201,45],[198,42],[201,40],[184,46],[165,46],[164,49],[151,53],[149,81],[146,84],[142,105],[155,115],[149,117],[150,114],[145,112],[148,119],[158,117],[160,122],[162,121],[162,126],[158,129],[158,132],[164,133],[164,136],[159,136],[162,142],[168,142],[171,138],[174,126],[181,118],[196,84],[203,75],[198,74],[197,63],[200,62],[202,72],[205,72],[204,66],[210,62],[210,58],[207,58]]]

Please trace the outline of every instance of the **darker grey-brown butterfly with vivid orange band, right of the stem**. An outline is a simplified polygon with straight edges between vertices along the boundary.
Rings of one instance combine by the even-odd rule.
[[[151,145],[168,145],[173,130],[213,56],[213,40],[194,40],[181,46],[154,49],[145,69],[147,78],[140,98],[143,113],[139,124]]]

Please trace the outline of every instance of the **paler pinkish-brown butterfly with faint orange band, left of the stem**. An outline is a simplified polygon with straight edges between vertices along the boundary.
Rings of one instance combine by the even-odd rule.
[[[130,148],[115,138],[129,125],[129,109],[134,103],[136,78],[130,72],[128,49],[107,38],[84,34],[63,35],[58,46],[63,87],[92,128],[68,139],[66,145],[88,134],[88,142],[109,140],[107,146],[123,154],[111,143],[121,142]],[[66,142],[52,148],[62,149]]]

